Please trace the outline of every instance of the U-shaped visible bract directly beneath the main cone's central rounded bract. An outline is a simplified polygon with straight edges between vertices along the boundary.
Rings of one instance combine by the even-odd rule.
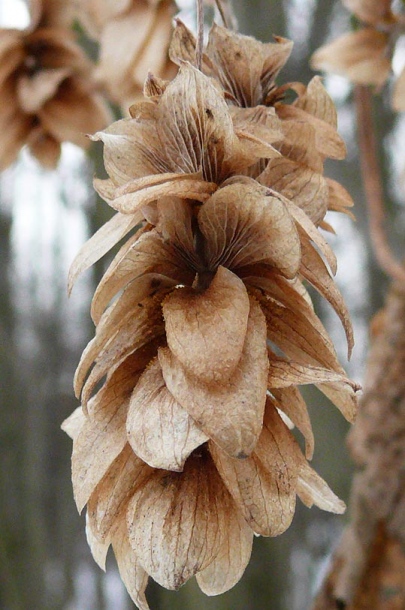
[[[225,383],[187,374],[169,349],[159,350],[169,391],[207,436],[229,455],[252,453],[259,438],[267,389],[266,325],[252,299],[242,358]]]

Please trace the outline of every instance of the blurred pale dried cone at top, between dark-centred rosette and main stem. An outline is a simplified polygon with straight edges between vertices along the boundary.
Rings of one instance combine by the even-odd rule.
[[[174,76],[167,50],[174,0],[75,0],[77,16],[100,45],[97,80],[125,111],[142,97],[148,70]]]

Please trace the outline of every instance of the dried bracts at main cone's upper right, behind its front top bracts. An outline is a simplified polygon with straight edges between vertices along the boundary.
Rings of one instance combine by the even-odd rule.
[[[195,45],[193,34],[178,21],[170,48],[173,61],[192,62]],[[349,213],[352,201],[339,184],[323,176],[323,163],[327,157],[343,159],[346,149],[336,131],[336,109],[318,77],[308,87],[277,86],[291,50],[292,42],[279,36],[263,44],[214,25],[203,71],[221,83],[235,130],[245,145],[251,142],[253,154],[263,140],[281,153],[250,167],[249,175],[293,200],[316,225],[328,229],[326,211]],[[284,101],[288,91],[297,95],[292,104]]]

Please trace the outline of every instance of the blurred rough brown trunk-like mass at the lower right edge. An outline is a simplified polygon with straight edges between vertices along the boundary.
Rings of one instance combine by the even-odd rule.
[[[314,610],[405,608],[405,286],[372,323],[360,413],[349,436],[358,471],[351,523]]]

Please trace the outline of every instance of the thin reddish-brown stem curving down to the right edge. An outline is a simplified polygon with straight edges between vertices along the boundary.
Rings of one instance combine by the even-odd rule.
[[[370,89],[357,85],[354,89],[354,99],[358,119],[361,171],[374,252],[380,266],[388,275],[405,282],[405,269],[393,256],[384,230],[384,193],[377,158]]]

